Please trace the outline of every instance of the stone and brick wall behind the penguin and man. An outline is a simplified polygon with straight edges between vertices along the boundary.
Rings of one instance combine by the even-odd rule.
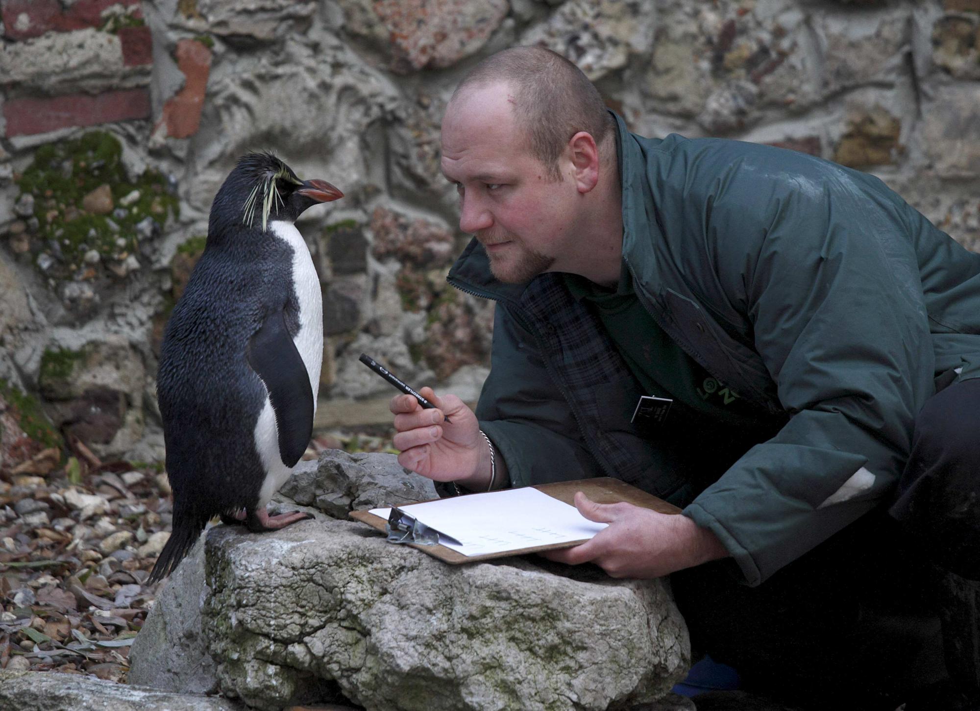
[[[323,284],[320,410],[388,397],[362,351],[475,397],[492,308],[444,280],[466,236],[438,126],[466,69],[515,44],[576,62],[633,130],[873,171],[980,249],[980,0],[0,7],[0,414],[34,412],[28,436],[39,402],[103,456],[162,453],[163,324],[250,149],[346,194],[299,225]]]

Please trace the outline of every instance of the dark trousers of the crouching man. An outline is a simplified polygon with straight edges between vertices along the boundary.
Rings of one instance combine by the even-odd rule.
[[[695,653],[802,708],[892,711],[946,675],[937,591],[947,570],[980,577],[978,481],[971,380],[923,407],[892,515],[872,511],[757,588],[731,561],[672,575]]]

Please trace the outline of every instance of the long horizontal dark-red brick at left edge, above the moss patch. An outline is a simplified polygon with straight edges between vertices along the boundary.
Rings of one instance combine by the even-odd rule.
[[[98,96],[72,94],[46,99],[10,99],[3,107],[7,136],[22,136],[150,116],[146,89],[107,91]]]

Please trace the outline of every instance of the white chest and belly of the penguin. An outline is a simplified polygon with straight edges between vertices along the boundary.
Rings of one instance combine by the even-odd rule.
[[[314,268],[310,250],[293,224],[276,220],[270,222],[269,227],[273,235],[293,249],[293,289],[296,291],[300,308],[300,327],[293,336],[293,343],[300,357],[303,358],[303,364],[310,376],[313,407],[316,413],[319,369],[323,361],[323,299],[319,288],[319,276]],[[266,480],[259,494],[259,506],[265,506],[293,473],[292,467],[282,463],[275,413],[268,395],[266,404],[259,414],[259,420],[256,422],[255,444],[266,468]]]

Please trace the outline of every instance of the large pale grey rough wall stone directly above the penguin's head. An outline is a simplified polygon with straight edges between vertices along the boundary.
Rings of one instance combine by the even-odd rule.
[[[207,213],[237,157],[272,147],[274,136],[276,152],[298,175],[335,182],[353,201],[374,167],[360,137],[400,102],[385,77],[327,33],[316,41],[289,35],[275,52],[216,60],[194,136],[200,167],[181,181],[181,196]]]

